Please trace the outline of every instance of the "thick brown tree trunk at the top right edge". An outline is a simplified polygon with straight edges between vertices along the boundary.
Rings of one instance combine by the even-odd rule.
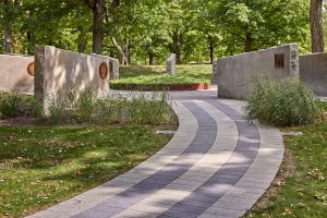
[[[311,0],[310,21],[312,52],[324,52],[323,0]]]

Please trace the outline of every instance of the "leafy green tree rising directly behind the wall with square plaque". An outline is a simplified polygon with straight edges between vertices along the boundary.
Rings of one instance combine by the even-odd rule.
[[[234,40],[249,52],[303,37],[303,0],[219,0],[211,14],[229,41]]]

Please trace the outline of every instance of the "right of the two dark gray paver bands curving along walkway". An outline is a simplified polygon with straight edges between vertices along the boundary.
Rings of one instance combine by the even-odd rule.
[[[203,185],[196,189],[187,197],[172,206],[170,209],[158,216],[159,218],[195,218],[211,207],[228,190],[230,190],[247,171],[259,148],[259,133],[253,123],[249,123],[243,114],[231,109],[219,101],[208,101],[215,108],[225,112],[238,125],[238,145],[222,167]],[[242,157],[241,162],[237,162]],[[237,162],[237,164],[235,164]],[[229,177],[229,179],[226,178]]]

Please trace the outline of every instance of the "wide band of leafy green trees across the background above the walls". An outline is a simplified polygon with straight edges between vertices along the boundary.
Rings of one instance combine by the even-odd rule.
[[[35,45],[179,63],[299,43],[311,50],[310,0],[2,0],[2,52]],[[325,31],[327,31],[325,28]]]

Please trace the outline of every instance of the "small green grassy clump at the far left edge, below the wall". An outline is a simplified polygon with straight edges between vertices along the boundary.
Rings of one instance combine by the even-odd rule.
[[[20,113],[20,106],[23,101],[23,95],[11,90],[0,93],[0,114],[2,118],[14,118]]]

